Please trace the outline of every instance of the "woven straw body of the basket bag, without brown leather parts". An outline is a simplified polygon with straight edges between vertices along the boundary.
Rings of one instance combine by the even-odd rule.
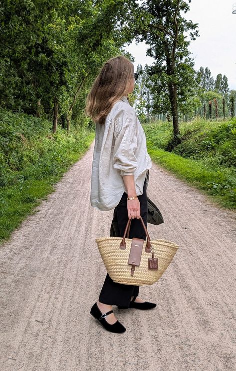
[[[150,241],[154,248],[154,258],[158,258],[158,270],[148,270],[148,258],[152,253],[145,252],[146,242],[143,244],[141,262],[135,267],[134,276],[131,276],[131,265],[128,264],[132,239],[125,239],[126,249],[120,249],[121,237],[104,237],[95,239],[107,272],[114,282],[125,285],[152,285],[163,275],[177,249],[174,242],[167,240]]]

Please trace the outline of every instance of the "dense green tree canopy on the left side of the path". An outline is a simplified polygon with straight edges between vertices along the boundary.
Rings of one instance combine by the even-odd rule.
[[[84,101],[104,60],[120,53],[128,10],[120,0],[1,1],[0,107],[52,118],[56,99],[60,115],[80,122],[74,103]]]

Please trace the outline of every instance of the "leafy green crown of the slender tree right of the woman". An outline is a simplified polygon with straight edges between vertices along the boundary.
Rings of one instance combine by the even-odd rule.
[[[147,55],[155,59],[155,65],[150,67],[150,75],[155,78],[154,111],[171,112],[174,135],[179,130],[178,107],[186,105],[196,87],[194,61],[188,47],[190,40],[198,36],[198,25],[185,19],[183,15],[188,10],[188,1],[183,0],[148,1],[142,5],[148,26],[145,22],[140,24],[139,39],[146,41]]]

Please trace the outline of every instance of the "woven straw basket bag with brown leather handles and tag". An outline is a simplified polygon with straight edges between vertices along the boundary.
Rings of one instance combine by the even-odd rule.
[[[114,282],[136,286],[152,285],[163,275],[179,246],[167,240],[150,241],[141,216],[140,221],[147,241],[126,238],[127,232],[129,236],[131,221],[132,219],[128,220],[123,238],[101,237],[95,241],[107,272]]]

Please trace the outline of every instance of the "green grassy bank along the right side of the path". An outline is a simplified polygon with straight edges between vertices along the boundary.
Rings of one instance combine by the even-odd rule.
[[[236,120],[195,120],[181,124],[182,141],[172,152],[171,123],[144,125],[152,160],[211,196],[236,209]]]

